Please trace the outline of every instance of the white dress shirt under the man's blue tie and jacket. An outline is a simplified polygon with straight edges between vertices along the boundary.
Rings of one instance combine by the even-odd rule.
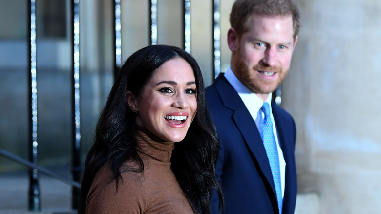
[[[260,110],[260,108],[263,106],[263,100],[260,99],[255,93],[253,93],[249,88],[244,86],[234,75],[232,69],[228,68],[226,73],[224,74],[225,78],[228,80],[228,82],[233,86],[235,91],[237,91],[238,95],[241,97],[243,103],[245,104],[246,108],[249,110],[250,114],[253,117],[253,120],[255,121],[256,127],[258,128],[259,133],[262,133],[262,122],[264,120],[265,114]],[[275,127],[275,121],[274,116],[272,113],[271,108],[271,98],[272,94],[269,94],[269,97],[265,101],[270,106],[270,116],[273,120],[273,131],[276,141],[276,147],[278,148],[278,156],[279,156],[279,167],[280,167],[280,181],[282,185],[282,197],[284,197],[284,180],[285,180],[285,172],[286,172],[286,162],[284,161],[283,152],[282,149],[279,146],[278,141],[278,135],[276,132]]]

